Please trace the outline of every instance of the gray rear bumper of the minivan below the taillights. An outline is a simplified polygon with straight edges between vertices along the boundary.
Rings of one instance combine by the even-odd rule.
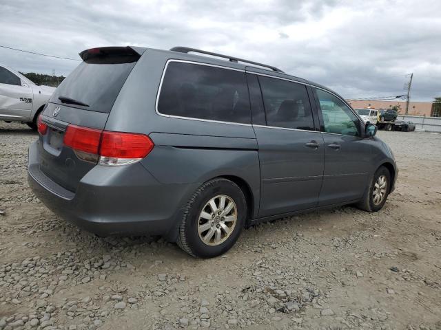
[[[95,166],[71,192],[39,169],[38,141],[29,148],[28,182],[50,210],[99,236],[176,238],[183,206],[197,184],[161,184],[139,164]]]

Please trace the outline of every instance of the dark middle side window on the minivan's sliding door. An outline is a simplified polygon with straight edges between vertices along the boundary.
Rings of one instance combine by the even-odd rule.
[[[267,125],[314,131],[311,104],[305,85],[259,76]]]

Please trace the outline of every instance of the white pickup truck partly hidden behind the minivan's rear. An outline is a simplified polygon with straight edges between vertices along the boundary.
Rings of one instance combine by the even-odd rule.
[[[36,129],[37,117],[54,90],[0,65],[0,120],[25,122]]]

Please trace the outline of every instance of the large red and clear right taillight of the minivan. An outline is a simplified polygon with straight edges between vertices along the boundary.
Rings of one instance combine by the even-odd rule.
[[[69,125],[64,135],[64,144],[74,149],[81,159],[99,164],[118,166],[138,162],[154,148],[147,135],[101,131],[76,125]],[[93,157],[96,156],[96,157]]]

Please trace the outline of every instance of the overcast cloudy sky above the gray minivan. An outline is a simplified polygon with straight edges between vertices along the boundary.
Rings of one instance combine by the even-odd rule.
[[[345,98],[441,96],[441,1],[0,0],[0,45],[79,58],[90,47],[200,48],[280,67]],[[78,62],[0,48],[21,72]]]

